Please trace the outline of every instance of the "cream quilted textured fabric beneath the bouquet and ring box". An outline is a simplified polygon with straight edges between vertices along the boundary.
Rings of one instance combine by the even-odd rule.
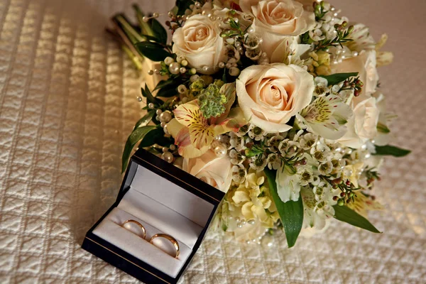
[[[114,202],[121,151],[138,119],[140,80],[104,33],[133,1],[0,0],[0,283],[136,283],[80,249]],[[170,1],[139,1],[167,11]],[[382,90],[398,113],[373,212],[383,234],[335,222],[285,249],[209,234],[182,283],[425,283],[426,72],[424,0],[334,1],[390,36]]]

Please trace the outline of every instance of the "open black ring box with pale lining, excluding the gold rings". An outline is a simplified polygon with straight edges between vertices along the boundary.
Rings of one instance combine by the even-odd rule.
[[[87,231],[82,248],[145,283],[177,283],[223,197],[224,192],[139,149],[116,202]],[[146,228],[146,239],[121,226],[128,219]],[[178,258],[149,243],[158,233],[178,241]]]

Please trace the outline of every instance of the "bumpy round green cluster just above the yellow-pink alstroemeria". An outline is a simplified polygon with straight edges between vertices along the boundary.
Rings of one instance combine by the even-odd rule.
[[[198,97],[200,111],[206,119],[219,116],[224,113],[226,104],[226,96],[220,93],[217,84],[209,84],[209,87],[202,89]]]

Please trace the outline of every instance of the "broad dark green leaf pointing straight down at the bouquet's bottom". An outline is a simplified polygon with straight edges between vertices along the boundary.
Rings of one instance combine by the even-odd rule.
[[[275,170],[265,169],[266,178],[268,178],[269,190],[280,214],[281,223],[283,223],[285,237],[287,238],[288,247],[291,248],[296,244],[297,237],[302,230],[303,224],[303,202],[302,197],[299,200],[283,202],[278,196],[277,185],[275,183]]]

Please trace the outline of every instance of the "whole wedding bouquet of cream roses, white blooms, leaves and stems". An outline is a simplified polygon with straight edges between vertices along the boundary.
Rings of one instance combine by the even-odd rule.
[[[148,73],[146,114],[123,154],[143,147],[226,192],[215,226],[258,242],[332,219],[378,233],[367,212],[393,119],[380,92],[381,51],[362,23],[324,1],[178,0],[165,26],[133,6],[138,25],[109,30]]]

